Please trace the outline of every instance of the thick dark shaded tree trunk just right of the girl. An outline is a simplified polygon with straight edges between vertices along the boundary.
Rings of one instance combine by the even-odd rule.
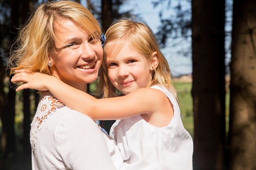
[[[192,0],[195,170],[225,169],[225,0]]]

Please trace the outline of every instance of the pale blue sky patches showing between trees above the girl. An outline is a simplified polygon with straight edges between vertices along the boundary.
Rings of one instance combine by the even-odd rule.
[[[85,0],[81,0],[81,4],[85,5],[86,2],[84,1]],[[170,17],[173,11],[166,9],[166,4],[161,4],[154,8],[152,1],[153,0],[127,0],[121,7],[121,11],[132,9],[132,14],[135,15],[137,19],[145,21],[153,32],[156,33],[158,26],[161,24],[158,16],[159,11],[164,11],[163,15],[166,18]],[[175,0],[172,2],[175,2]],[[178,53],[178,51],[188,49],[191,46],[191,40],[169,40],[167,44],[169,45],[161,50],[168,61],[173,75],[179,76],[191,74],[191,55],[184,57],[182,54]],[[173,44],[176,45],[173,46]]]

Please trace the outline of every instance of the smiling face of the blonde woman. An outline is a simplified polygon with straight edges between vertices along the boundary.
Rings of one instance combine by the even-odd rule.
[[[98,76],[103,57],[101,41],[70,20],[59,20],[54,33],[57,41],[49,57],[52,75],[86,91],[86,84],[94,82]]]

